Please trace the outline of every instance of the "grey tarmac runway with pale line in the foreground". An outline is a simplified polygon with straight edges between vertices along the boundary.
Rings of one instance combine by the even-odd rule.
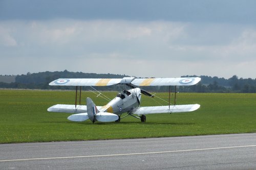
[[[0,144],[0,169],[256,169],[256,133]]]

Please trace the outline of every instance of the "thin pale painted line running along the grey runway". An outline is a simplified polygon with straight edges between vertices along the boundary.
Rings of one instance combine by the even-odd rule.
[[[69,159],[69,158],[91,158],[91,157],[109,157],[109,156],[126,156],[126,155],[163,154],[163,153],[206,151],[206,150],[248,148],[248,147],[256,147],[256,145],[245,145],[245,146],[236,146],[236,147],[220,147],[220,148],[204,148],[204,149],[190,149],[190,150],[178,150],[178,151],[144,152],[144,153],[130,153],[130,154],[127,153],[127,154],[110,154],[110,155],[88,155],[88,156],[67,156],[67,157],[49,157],[49,158],[9,159],[9,160],[0,160],[0,162],[27,161],[27,160],[44,160],[44,159]]]

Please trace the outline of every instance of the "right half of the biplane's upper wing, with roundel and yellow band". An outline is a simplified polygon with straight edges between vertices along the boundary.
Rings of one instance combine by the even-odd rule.
[[[200,82],[201,78],[151,78],[135,79],[132,84],[135,86],[190,86]]]

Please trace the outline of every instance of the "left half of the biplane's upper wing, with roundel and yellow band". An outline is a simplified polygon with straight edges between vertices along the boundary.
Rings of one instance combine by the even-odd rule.
[[[51,86],[111,86],[122,79],[57,79],[49,83]]]

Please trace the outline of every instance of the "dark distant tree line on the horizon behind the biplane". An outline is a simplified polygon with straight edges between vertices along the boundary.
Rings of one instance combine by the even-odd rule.
[[[114,74],[95,74],[83,72],[64,71],[46,71],[27,75],[17,75],[15,82],[0,82],[0,88],[18,88],[18,89],[74,89],[71,86],[49,86],[49,83],[58,78],[123,78],[127,75]],[[182,77],[200,77],[201,82],[194,86],[179,86],[179,92],[237,92],[237,93],[255,93],[256,79],[238,78],[236,75],[229,79],[210,77],[210,76],[182,76]],[[91,87],[82,87],[83,90],[89,90]],[[168,87],[143,87],[148,91],[168,91]],[[120,90],[119,86],[97,87],[97,90]]]

